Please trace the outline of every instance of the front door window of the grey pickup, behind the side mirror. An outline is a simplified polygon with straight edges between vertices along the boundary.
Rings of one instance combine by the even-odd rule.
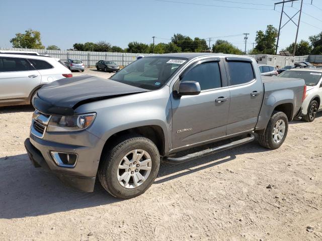
[[[201,90],[221,87],[219,63],[201,63],[189,70],[181,81],[197,81],[200,84]]]

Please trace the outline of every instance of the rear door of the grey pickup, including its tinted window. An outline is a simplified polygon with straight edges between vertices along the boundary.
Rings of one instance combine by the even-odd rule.
[[[227,57],[225,64],[230,90],[227,135],[253,130],[263,100],[262,80],[256,79],[252,59]]]

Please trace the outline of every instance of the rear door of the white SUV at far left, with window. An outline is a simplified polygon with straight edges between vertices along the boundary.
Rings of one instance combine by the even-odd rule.
[[[40,73],[25,58],[0,57],[0,99],[27,100],[41,82]]]

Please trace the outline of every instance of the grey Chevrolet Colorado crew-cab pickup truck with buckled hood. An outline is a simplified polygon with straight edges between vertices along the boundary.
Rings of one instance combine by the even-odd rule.
[[[146,57],[110,79],[84,75],[42,87],[25,147],[35,167],[72,187],[91,192],[98,177],[113,196],[131,198],[149,188],[160,161],[189,161],[255,136],[279,148],[303,97],[304,80],[262,77],[251,57]],[[225,139],[232,140],[180,155]]]

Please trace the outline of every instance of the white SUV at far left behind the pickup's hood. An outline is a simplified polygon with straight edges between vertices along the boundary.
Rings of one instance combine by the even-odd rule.
[[[70,70],[54,58],[0,53],[0,106],[30,104],[43,85],[67,77]]]

